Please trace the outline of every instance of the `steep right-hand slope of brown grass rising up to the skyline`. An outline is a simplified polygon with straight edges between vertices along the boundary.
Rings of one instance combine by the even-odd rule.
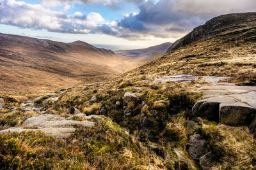
[[[138,74],[140,70],[143,74],[153,73],[151,76],[197,74],[252,77],[256,67],[256,13],[221,15],[207,24],[214,25],[217,19],[218,23],[225,24],[223,27],[218,26],[218,29],[211,33],[214,35],[208,38],[192,36],[198,40],[195,42],[189,40],[188,45],[184,46],[180,43],[180,48],[177,47],[160,59],[129,73]],[[194,31],[182,39],[190,39],[193,34],[195,34]]]

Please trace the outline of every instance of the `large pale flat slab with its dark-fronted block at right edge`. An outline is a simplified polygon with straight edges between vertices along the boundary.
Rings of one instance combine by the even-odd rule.
[[[252,127],[252,121],[256,117],[255,86],[219,84],[200,87],[198,90],[202,92],[204,99],[193,106],[192,111],[196,117],[221,124]]]

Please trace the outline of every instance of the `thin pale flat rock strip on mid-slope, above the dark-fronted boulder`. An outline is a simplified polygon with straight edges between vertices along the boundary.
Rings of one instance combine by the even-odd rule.
[[[181,74],[181,75],[176,75],[176,76],[163,76],[161,78],[156,78],[153,81],[155,81],[157,83],[166,83],[167,81],[189,82],[191,80],[198,80],[198,78],[204,78],[205,81],[210,82],[210,83],[218,83],[218,81],[227,79],[228,77],[193,76],[191,74]]]

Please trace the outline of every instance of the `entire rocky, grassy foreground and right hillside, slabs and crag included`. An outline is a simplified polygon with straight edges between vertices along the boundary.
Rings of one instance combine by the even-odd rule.
[[[222,15],[111,80],[2,97],[1,167],[255,169],[255,21]]]

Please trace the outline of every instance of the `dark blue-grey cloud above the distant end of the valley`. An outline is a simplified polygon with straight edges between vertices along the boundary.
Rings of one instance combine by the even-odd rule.
[[[158,3],[147,1],[140,6],[140,13],[125,15],[118,26],[131,32],[141,31],[159,38],[170,38],[170,31],[187,32],[202,24],[205,19],[173,9],[173,1],[160,0]]]

